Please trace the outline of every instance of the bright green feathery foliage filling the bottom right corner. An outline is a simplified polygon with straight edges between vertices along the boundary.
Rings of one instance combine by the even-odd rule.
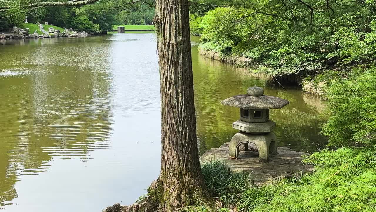
[[[246,212],[376,211],[376,147],[323,150],[304,159],[315,165],[299,180],[250,188],[240,197]]]

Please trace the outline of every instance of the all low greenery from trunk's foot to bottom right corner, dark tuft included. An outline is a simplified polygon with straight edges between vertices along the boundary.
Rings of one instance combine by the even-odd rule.
[[[197,202],[180,212],[376,212],[376,146],[324,149],[305,156],[315,171],[252,186],[244,173],[223,161],[202,164],[216,203]]]

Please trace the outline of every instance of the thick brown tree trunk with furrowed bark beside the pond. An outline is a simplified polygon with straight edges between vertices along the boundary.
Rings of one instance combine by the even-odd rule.
[[[161,211],[209,199],[197,151],[188,9],[188,0],[156,2],[162,161],[152,195]]]

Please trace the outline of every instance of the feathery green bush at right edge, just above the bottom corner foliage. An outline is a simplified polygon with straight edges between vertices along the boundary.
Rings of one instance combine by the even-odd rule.
[[[334,81],[327,98],[331,116],[322,132],[329,137],[329,144],[376,143],[376,68]]]

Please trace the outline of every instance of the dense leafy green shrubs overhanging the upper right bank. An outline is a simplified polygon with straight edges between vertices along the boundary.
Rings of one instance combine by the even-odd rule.
[[[374,0],[262,0],[206,13],[202,49],[252,58],[272,75],[315,75],[375,60]]]

